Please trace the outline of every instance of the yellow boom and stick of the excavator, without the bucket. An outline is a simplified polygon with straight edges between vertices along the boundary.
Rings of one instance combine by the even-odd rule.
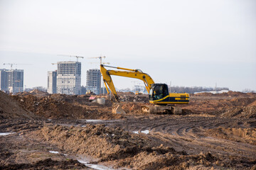
[[[114,83],[112,81],[111,75],[119,76],[119,77],[129,77],[134,79],[140,79],[144,82],[144,85],[146,86],[146,91],[151,89],[151,85],[154,84],[154,80],[149,76],[149,74],[146,74],[142,72],[140,69],[126,69],[122,67],[111,67],[114,69],[122,69],[125,71],[117,71],[117,70],[107,70],[105,67],[111,67],[111,66],[105,66],[100,65],[100,72],[102,73],[103,81],[107,89],[107,94],[110,94],[110,91],[112,92],[114,98],[116,101],[119,101],[117,96],[117,91],[114,87]],[[110,91],[108,90],[107,86],[110,88]]]

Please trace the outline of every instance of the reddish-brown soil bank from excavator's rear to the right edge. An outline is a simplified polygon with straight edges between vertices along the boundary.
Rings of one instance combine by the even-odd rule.
[[[255,118],[255,96],[216,97],[191,96],[188,105],[181,106],[194,114],[209,114],[227,118]]]

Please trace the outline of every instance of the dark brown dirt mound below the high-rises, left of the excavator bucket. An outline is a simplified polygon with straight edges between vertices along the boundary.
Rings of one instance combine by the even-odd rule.
[[[98,103],[87,102],[77,96],[54,94],[46,97],[13,96],[23,108],[43,118],[109,119],[118,118],[111,108]]]

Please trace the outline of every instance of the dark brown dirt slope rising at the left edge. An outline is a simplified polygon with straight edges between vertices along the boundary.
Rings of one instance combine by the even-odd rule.
[[[0,118],[35,118],[33,113],[24,110],[11,96],[0,91]]]

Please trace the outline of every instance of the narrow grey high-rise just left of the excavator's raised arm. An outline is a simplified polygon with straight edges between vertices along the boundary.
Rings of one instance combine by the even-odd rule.
[[[101,74],[100,69],[89,69],[87,71],[86,90],[95,94],[101,93],[100,88]]]

